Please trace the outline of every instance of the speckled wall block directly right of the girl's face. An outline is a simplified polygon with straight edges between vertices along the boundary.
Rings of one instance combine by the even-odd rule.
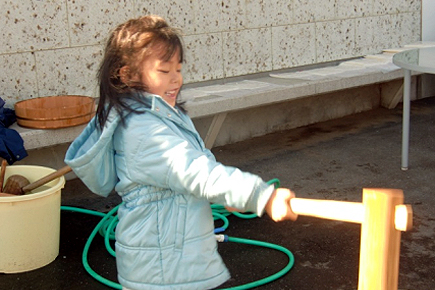
[[[224,77],[221,33],[186,36],[184,43],[186,49],[186,62],[183,66],[185,83]]]

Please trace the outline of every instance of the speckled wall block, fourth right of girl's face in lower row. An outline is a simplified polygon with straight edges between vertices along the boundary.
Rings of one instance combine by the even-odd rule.
[[[318,62],[355,56],[355,20],[316,23],[316,42]]]

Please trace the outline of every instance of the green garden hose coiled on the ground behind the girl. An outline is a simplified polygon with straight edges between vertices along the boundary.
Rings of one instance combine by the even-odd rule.
[[[272,179],[268,182],[268,184],[275,184],[275,187],[279,187],[279,180]],[[88,263],[88,253],[89,253],[89,248],[91,246],[93,239],[95,238],[97,233],[99,233],[101,236],[104,237],[104,244],[105,244],[106,249],[109,252],[109,254],[111,254],[113,257],[116,257],[115,250],[110,245],[110,240],[115,239],[115,227],[116,227],[116,224],[118,223],[118,216],[116,215],[116,212],[118,211],[118,208],[121,204],[114,207],[108,213],[101,213],[98,211],[82,209],[82,208],[77,208],[77,207],[71,207],[71,206],[61,206],[61,210],[64,210],[64,211],[72,211],[72,212],[78,212],[78,213],[84,213],[84,214],[102,217],[102,219],[95,226],[92,233],[89,235],[88,240],[86,241],[86,244],[85,244],[85,247],[84,247],[83,253],[82,253],[82,263],[83,263],[83,267],[85,268],[86,272],[88,272],[89,275],[91,275],[94,279],[96,279],[100,283],[105,284],[106,286],[109,286],[109,287],[114,288],[114,289],[122,289],[122,286],[119,283],[116,283],[116,282],[111,281],[107,278],[104,278],[103,276],[101,276],[100,274],[95,272],[90,267],[90,265]],[[221,205],[213,204],[213,205],[211,205],[211,207],[212,207],[212,213],[213,213],[214,220],[223,221],[223,225],[221,227],[215,229],[215,234],[222,233],[228,228],[229,221],[228,221],[227,216],[230,214],[233,214],[233,215],[235,215],[239,218],[243,218],[243,219],[252,219],[252,218],[257,217],[255,214],[229,212],[225,209],[225,207],[223,207]],[[243,285],[235,286],[235,287],[231,287],[231,288],[225,288],[222,290],[251,289],[254,287],[258,287],[258,286],[270,283],[270,282],[282,277],[286,273],[288,273],[294,265],[294,256],[293,256],[292,252],[290,252],[288,249],[286,249],[282,246],[267,243],[267,242],[257,241],[257,240],[229,237],[227,235],[222,235],[222,234],[220,234],[219,236],[221,238],[220,242],[221,241],[234,242],[234,243],[241,243],[241,244],[270,248],[273,250],[283,252],[284,254],[286,254],[288,256],[288,259],[289,259],[288,264],[283,269],[281,269],[279,272],[277,272],[273,275],[270,275],[270,276],[265,277],[263,279],[256,280],[256,281],[253,281],[253,282],[250,282],[247,284],[243,284]]]

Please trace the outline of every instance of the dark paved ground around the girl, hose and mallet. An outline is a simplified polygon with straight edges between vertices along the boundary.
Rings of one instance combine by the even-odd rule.
[[[402,189],[412,205],[414,227],[402,233],[399,289],[435,289],[435,98],[412,103],[410,167],[400,169],[401,108],[357,115],[214,148],[219,161],[278,178],[298,197],[361,202],[363,188]],[[243,126],[243,124],[240,124]],[[78,180],[68,181],[62,204],[108,211],[119,203],[100,198]],[[0,274],[0,289],[110,289],[81,264],[83,246],[100,218],[62,212],[60,253],[40,269]],[[272,222],[267,216],[230,216],[229,236],[255,239],[289,249],[295,263],[283,277],[256,289],[357,289],[360,225],[300,216]],[[37,250],[37,249],[35,249]],[[281,252],[238,243],[219,245],[234,287],[272,275],[287,265]],[[381,253],[380,253],[381,254]],[[97,236],[89,251],[91,267],[116,281],[115,259]]]

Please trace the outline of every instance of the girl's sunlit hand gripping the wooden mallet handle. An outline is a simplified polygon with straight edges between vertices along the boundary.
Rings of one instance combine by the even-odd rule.
[[[287,188],[277,188],[266,204],[266,213],[275,222],[283,220],[295,221],[298,217],[290,207],[290,199],[295,197],[293,191]]]

